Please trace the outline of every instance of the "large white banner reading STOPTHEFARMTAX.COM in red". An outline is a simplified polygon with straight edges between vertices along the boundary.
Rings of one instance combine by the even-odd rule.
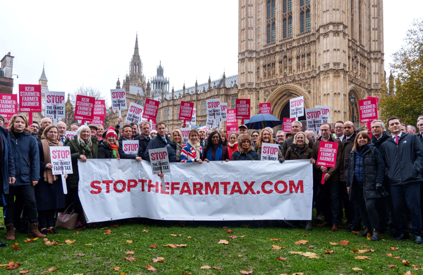
[[[170,163],[165,190],[150,162],[78,160],[87,221],[311,219],[310,160]]]

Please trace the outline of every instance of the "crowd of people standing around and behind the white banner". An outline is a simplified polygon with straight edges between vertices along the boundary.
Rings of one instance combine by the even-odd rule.
[[[7,240],[14,240],[15,230],[29,231],[34,237],[57,234],[55,217],[68,208],[78,213],[77,227],[88,226],[77,191],[78,159],[149,161],[148,150],[167,148],[170,162],[260,160],[262,144],[271,143],[279,146],[280,163],[309,159],[313,165],[316,226],[328,226],[331,231],[362,230],[359,236],[371,234],[375,241],[387,228],[394,240],[409,239],[411,231],[413,241],[423,243],[423,115],[417,120],[418,133],[397,117],[389,118],[386,128],[382,120],[371,122],[371,129],[356,128],[351,121],[337,121],[333,129],[331,124],[322,123],[316,137],[313,131],[303,131],[300,121],[294,121],[292,131],[275,134],[269,127],[249,133],[246,125],[229,136],[222,128],[193,128],[186,143],[179,128],[168,133],[164,122],[156,124],[156,131],[149,122],[122,128],[121,122],[119,119],[118,125],[108,129],[72,124],[69,130],[76,134],[69,140],[64,122],[52,125],[50,119],[43,118],[40,124],[28,125],[28,119],[19,114],[10,121],[0,116],[0,195]],[[6,123],[8,129],[4,128]],[[138,141],[136,155],[123,151],[125,140]],[[335,167],[317,165],[321,141],[337,144]],[[62,178],[51,172],[49,146],[70,147],[73,174],[65,176],[66,195]],[[346,221],[342,221],[344,212]],[[273,221],[268,223],[271,226]],[[312,230],[311,219],[304,223],[305,230]],[[0,241],[0,246],[6,245]]]

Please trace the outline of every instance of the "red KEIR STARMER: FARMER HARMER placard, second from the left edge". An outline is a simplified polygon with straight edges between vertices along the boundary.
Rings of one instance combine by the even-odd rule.
[[[19,112],[42,112],[41,85],[19,84]]]

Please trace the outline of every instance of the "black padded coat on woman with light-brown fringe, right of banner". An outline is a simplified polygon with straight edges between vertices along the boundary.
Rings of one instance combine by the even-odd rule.
[[[385,165],[379,150],[376,149],[373,144],[367,144],[362,152],[359,152],[358,150],[350,152],[350,163],[347,171],[347,187],[350,187],[350,200],[353,197],[352,193],[354,192],[354,187],[357,184],[354,179],[357,156],[359,158],[362,157],[362,167],[360,167],[360,170],[362,170],[364,178],[363,198],[382,198],[382,195],[376,191],[376,183],[383,183]]]

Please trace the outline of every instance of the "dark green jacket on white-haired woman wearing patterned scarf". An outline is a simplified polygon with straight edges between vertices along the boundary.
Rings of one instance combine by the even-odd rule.
[[[66,184],[68,188],[78,188],[78,182],[80,181],[80,174],[78,173],[78,159],[81,158],[82,149],[81,144],[77,141],[77,136],[67,143],[70,147],[70,159],[72,160],[73,174],[68,175]],[[95,136],[91,136],[91,146],[93,158],[98,158],[98,139]]]

